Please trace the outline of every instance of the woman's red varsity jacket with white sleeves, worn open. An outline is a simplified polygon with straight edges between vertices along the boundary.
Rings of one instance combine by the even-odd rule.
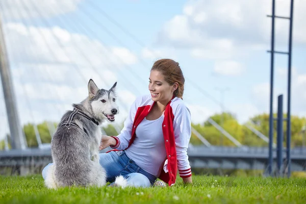
[[[124,121],[121,133],[114,137],[116,145],[111,146],[111,148],[123,150],[130,147],[136,137],[135,131],[138,124],[148,115],[155,103],[150,95],[136,98],[131,106],[129,116]],[[180,177],[191,176],[191,168],[187,155],[187,148],[191,137],[191,115],[181,98],[173,97],[169,101],[164,112],[162,129],[167,158],[165,158],[165,162],[162,164],[159,179],[172,186],[175,184],[177,169],[179,170]]]

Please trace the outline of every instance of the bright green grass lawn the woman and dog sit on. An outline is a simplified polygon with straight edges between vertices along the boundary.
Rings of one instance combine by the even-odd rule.
[[[306,179],[193,176],[169,188],[62,188],[49,190],[40,175],[0,176],[0,203],[305,203]]]

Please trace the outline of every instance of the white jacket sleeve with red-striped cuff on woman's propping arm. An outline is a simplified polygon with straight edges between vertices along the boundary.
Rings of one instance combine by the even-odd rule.
[[[191,138],[191,114],[184,105],[179,104],[173,119],[173,131],[177,157],[177,168],[182,178],[191,176],[191,167],[188,160],[187,148]]]

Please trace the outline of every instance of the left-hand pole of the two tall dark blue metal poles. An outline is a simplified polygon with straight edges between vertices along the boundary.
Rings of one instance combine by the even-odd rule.
[[[268,173],[269,173],[269,175],[272,174],[272,164],[273,164],[272,143],[273,143],[274,16],[275,16],[275,0],[272,0],[270,117],[269,117],[269,159],[268,159]]]

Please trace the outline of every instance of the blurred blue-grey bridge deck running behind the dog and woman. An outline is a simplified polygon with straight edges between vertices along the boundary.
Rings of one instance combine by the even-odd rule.
[[[106,148],[100,153],[111,150]],[[207,169],[245,169],[265,170],[268,167],[269,149],[267,147],[221,147],[206,145],[188,148],[189,162],[192,168]],[[27,148],[23,150],[0,151],[0,167],[27,167],[42,169],[52,163],[51,151],[46,148]],[[276,169],[276,151],[273,154],[273,166]],[[282,172],[287,172],[286,158]],[[306,171],[306,148],[291,149],[292,171]]]

